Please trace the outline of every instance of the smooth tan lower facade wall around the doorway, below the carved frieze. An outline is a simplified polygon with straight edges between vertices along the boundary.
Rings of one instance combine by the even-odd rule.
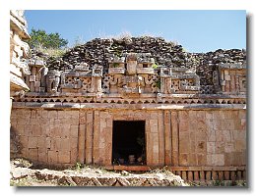
[[[186,172],[183,177],[200,171],[210,175],[212,171],[228,172],[229,176],[231,171],[245,171],[245,115],[245,110],[17,108],[11,121],[23,147],[19,156],[34,163],[109,167],[112,122],[145,121],[148,167],[168,166],[177,174]]]

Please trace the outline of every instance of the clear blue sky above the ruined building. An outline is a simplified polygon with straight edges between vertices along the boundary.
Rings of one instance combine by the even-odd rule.
[[[96,37],[153,35],[188,52],[246,48],[243,10],[26,10],[28,28],[59,32],[69,47]]]

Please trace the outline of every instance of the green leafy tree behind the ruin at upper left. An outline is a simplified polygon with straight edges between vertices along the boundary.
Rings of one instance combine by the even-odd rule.
[[[31,48],[60,49],[68,44],[68,40],[61,38],[58,32],[46,33],[45,30],[32,28],[31,37],[28,41]]]

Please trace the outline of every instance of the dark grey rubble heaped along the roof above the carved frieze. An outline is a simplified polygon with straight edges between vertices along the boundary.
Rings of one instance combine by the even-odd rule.
[[[161,37],[150,36],[120,39],[96,38],[70,49],[60,58],[32,52],[32,58],[39,56],[46,60],[49,70],[72,70],[81,63],[87,63],[91,67],[102,66],[103,72],[107,71],[108,60],[113,55],[122,57],[127,53],[148,53],[149,58],[154,58],[158,66],[195,70],[200,76],[201,85],[213,85],[213,72],[217,70],[218,64],[245,64],[246,62],[244,49],[219,49],[208,53],[189,53],[181,45],[165,41]]]

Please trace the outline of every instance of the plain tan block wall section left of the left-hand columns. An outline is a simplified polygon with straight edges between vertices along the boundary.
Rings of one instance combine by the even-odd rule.
[[[78,111],[13,110],[21,155],[34,163],[74,164],[78,155]]]

